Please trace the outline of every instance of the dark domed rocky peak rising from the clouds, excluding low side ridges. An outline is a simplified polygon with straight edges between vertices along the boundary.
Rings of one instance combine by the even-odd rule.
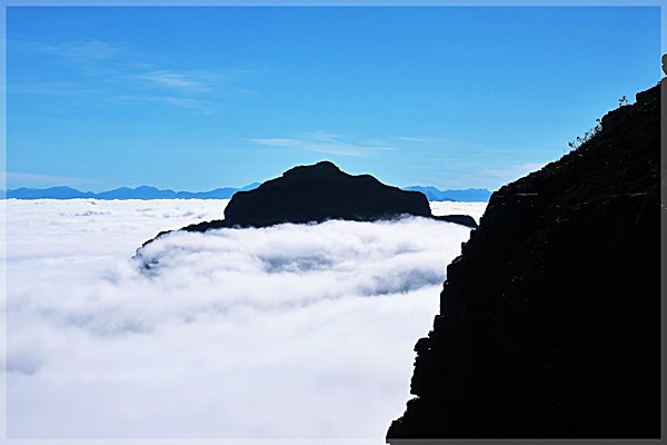
[[[348,175],[322,161],[295,167],[255,190],[237,192],[225,209],[225,220],[231,226],[265,227],[402,214],[430,216],[428,200],[422,194],[386,186],[370,175]]]

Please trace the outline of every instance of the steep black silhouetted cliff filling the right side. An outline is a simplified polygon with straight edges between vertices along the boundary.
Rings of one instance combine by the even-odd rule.
[[[496,191],[388,441],[659,437],[660,88]],[[392,441],[394,439],[394,441]]]

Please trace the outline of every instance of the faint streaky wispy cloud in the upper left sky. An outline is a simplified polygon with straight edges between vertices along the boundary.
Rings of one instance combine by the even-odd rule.
[[[27,95],[89,95],[107,103],[150,102],[211,112],[215,97],[247,93],[239,82],[256,71],[236,67],[175,69],[168,61],[125,43],[102,40],[56,43],[11,41],[16,52],[49,55],[69,67],[77,82],[31,79],[11,82],[9,91]],[[44,61],[48,63],[47,61]]]

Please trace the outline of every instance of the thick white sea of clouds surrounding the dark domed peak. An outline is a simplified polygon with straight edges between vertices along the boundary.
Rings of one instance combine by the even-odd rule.
[[[173,233],[132,258],[226,204],[4,201],[10,437],[385,436],[469,229]],[[432,208],[479,219],[485,204]]]

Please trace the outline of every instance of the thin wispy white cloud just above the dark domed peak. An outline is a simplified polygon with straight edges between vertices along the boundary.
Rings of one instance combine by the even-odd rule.
[[[317,151],[339,156],[364,157],[377,151],[395,150],[387,145],[367,145],[344,140],[342,135],[327,131],[306,132],[292,138],[256,138],[255,144],[268,147],[288,148],[293,150]]]

